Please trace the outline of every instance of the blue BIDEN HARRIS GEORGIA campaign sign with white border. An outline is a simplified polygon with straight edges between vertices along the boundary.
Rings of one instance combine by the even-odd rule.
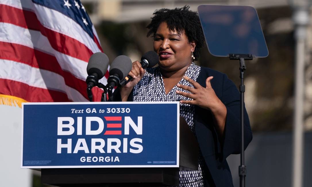
[[[22,168],[179,167],[178,153],[178,102],[22,105]]]

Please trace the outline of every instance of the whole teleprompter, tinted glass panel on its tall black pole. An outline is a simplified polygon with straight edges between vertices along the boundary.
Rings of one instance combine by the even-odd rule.
[[[246,14],[248,12],[248,14]],[[225,24],[224,15],[231,17]],[[244,164],[244,71],[245,60],[269,55],[259,17],[251,6],[200,5],[198,15],[211,55],[239,60],[239,86],[241,97],[241,165],[239,166],[240,186],[245,186],[246,166]],[[216,19],[209,19],[214,17]],[[246,19],[247,18],[247,19]],[[216,20],[218,20],[216,22]],[[242,27],[243,26],[243,27]]]

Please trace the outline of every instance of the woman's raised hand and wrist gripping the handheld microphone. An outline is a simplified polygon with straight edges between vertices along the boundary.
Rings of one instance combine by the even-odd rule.
[[[129,83],[121,87],[120,96],[122,101],[127,101],[128,97],[135,85],[143,78],[145,70],[142,68],[142,65],[137,60],[132,63],[132,69],[129,72],[129,75],[133,78]]]

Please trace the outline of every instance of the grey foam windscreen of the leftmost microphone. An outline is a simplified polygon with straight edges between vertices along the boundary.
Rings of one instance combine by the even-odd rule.
[[[98,79],[102,79],[109,64],[110,60],[107,55],[101,52],[94,53],[91,55],[87,65],[87,74],[91,75],[92,73],[96,73],[98,74]]]

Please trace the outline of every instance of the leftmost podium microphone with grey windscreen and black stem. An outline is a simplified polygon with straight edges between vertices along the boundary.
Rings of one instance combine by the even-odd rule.
[[[91,89],[97,86],[99,79],[102,79],[107,71],[109,65],[109,59],[107,55],[101,52],[91,55],[88,65],[87,74],[88,77],[85,80],[87,83],[87,94],[90,101],[92,101],[93,95]]]

